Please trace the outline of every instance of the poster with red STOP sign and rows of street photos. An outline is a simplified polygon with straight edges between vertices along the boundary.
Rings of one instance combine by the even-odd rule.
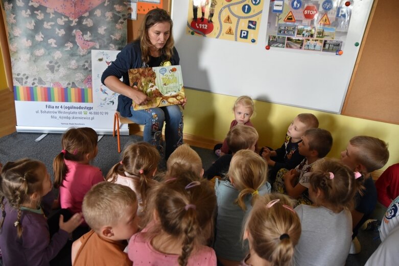
[[[267,45],[341,55],[353,5],[347,0],[270,1]]]

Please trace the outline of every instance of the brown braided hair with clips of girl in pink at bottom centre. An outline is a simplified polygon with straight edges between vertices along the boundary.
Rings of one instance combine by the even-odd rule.
[[[151,195],[145,222],[148,225],[154,221],[154,212],[158,219],[149,228],[149,233],[164,232],[172,241],[182,240],[178,262],[185,266],[193,249],[204,245],[213,232],[215,190],[206,179],[189,171],[159,183]]]

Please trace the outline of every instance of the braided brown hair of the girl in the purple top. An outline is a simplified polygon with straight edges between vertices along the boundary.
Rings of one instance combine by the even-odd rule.
[[[30,202],[30,196],[34,192],[42,192],[42,182],[44,176],[38,175],[40,167],[44,164],[40,161],[31,159],[21,159],[15,162],[7,162],[0,177],[1,187],[1,209],[3,211],[2,221],[0,222],[0,229],[4,223],[4,198],[7,199],[10,206],[15,208],[18,212],[17,221],[17,236],[22,235],[21,225],[21,205]]]

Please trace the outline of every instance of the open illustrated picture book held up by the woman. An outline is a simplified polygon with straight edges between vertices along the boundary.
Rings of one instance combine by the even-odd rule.
[[[129,82],[152,99],[146,105],[133,102],[134,110],[175,105],[184,100],[180,65],[129,69]]]

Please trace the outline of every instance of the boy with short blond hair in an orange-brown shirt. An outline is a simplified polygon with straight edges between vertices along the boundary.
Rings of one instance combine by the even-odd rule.
[[[91,230],[72,245],[74,266],[132,265],[124,249],[138,230],[136,194],[127,186],[101,182],[83,200]]]

